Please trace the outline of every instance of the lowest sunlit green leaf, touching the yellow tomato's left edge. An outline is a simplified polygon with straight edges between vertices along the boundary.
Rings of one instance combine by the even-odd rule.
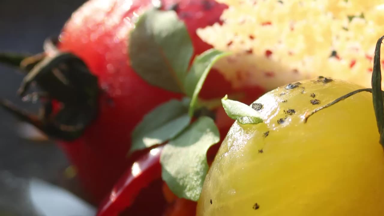
[[[187,130],[169,141],[161,153],[162,179],[180,198],[197,201],[208,171],[207,150],[220,141],[209,117],[200,117]]]

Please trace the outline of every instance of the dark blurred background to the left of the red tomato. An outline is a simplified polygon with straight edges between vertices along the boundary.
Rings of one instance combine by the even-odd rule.
[[[41,52],[45,38],[58,35],[71,13],[84,2],[0,0],[0,52]],[[0,65],[0,77],[1,98],[28,110],[37,110],[38,105],[23,103],[16,95],[22,74]],[[22,205],[17,201],[23,193],[22,185],[15,185],[16,179],[25,182],[36,177],[73,189],[74,183],[63,177],[68,165],[65,156],[50,141],[33,141],[20,136],[18,121],[0,109],[0,216],[4,215],[2,209]]]

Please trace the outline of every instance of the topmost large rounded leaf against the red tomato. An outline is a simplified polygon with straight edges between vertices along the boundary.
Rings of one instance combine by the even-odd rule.
[[[151,85],[182,93],[193,46],[174,11],[147,10],[131,31],[131,65]]]

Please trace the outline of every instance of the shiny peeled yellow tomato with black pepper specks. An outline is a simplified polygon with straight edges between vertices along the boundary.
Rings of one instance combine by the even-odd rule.
[[[384,151],[372,94],[319,77],[260,97],[264,123],[234,123],[204,182],[198,216],[383,216]]]

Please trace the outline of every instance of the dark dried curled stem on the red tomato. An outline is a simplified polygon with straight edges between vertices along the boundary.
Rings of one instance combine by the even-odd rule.
[[[0,106],[51,138],[71,141],[81,136],[97,117],[101,90],[98,78],[86,64],[72,53],[60,52],[56,43],[57,39],[48,38],[44,52],[33,56],[0,54],[0,63],[18,66],[26,72],[18,90],[20,96],[27,95],[32,83],[39,87],[41,92],[32,96],[41,99],[42,115],[21,110],[7,100],[0,99]],[[53,101],[60,103],[54,112]]]

